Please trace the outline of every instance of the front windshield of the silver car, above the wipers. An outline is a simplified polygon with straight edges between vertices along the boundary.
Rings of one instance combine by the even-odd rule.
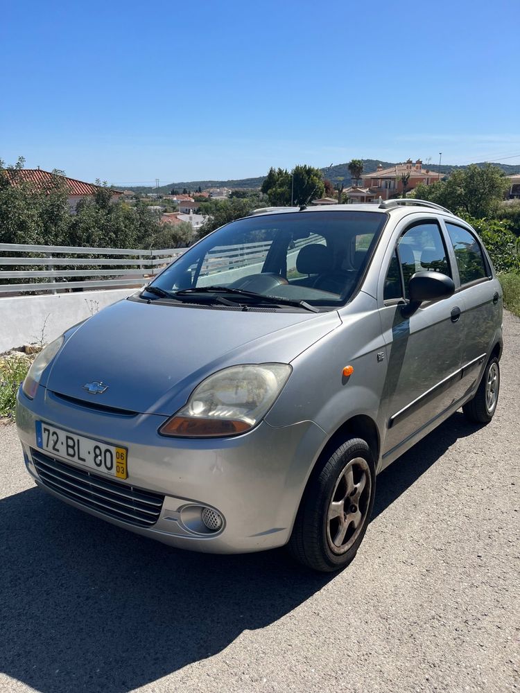
[[[372,256],[385,213],[308,211],[252,216],[210,234],[152,286],[196,297],[197,290],[275,297],[287,304],[340,306],[352,297]],[[211,291],[210,291],[211,288]],[[251,296],[253,295],[253,296]]]

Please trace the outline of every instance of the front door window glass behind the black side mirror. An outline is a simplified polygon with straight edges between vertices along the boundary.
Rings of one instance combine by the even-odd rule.
[[[403,272],[405,297],[410,298],[408,282],[415,272],[430,270],[451,277],[446,248],[436,222],[418,222],[399,238],[397,245]]]

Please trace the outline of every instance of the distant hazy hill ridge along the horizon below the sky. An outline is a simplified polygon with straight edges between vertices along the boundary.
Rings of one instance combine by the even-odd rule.
[[[401,162],[399,162],[401,163]],[[383,168],[390,168],[390,166],[396,166],[395,162],[392,161],[381,161],[379,159],[363,159],[363,173],[373,173],[374,170],[381,164]],[[482,161],[477,166],[485,166],[485,162]],[[509,164],[494,164],[498,168],[501,168],[505,175],[512,175],[513,173],[520,173],[520,166],[510,166]],[[426,164],[423,164],[423,168],[426,168]],[[430,169],[433,173],[451,173],[451,171],[458,168],[467,168],[467,166],[452,166],[451,164],[446,164],[440,167],[437,165],[430,164]],[[348,164],[336,164],[336,166],[325,166],[321,169],[324,178],[328,178],[333,183],[342,182],[347,188],[352,180],[350,177]],[[178,191],[182,192],[184,188],[190,190],[191,192],[196,191],[200,186],[202,190],[207,188],[233,188],[238,190],[250,189],[258,190],[258,188],[263,183],[266,176],[258,176],[257,178],[241,178],[241,179],[230,179],[230,180],[191,180],[175,182],[169,185],[163,185],[159,188],[159,192],[165,195],[171,191],[172,188],[177,188]],[[153,186],[129,186],[128,190],[133,190],[136,193],[146,194],[155,193],[156,188]]]

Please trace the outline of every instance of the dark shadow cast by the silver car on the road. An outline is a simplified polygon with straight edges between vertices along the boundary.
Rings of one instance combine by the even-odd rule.
[[[456,414],[383,472],[374,514],[473,430]],[[173,550],[36,488],[0,502],[0,536],[0,668],[44,693],[123,693],[156,681],[275,622],[333,579],[282,550]]]

